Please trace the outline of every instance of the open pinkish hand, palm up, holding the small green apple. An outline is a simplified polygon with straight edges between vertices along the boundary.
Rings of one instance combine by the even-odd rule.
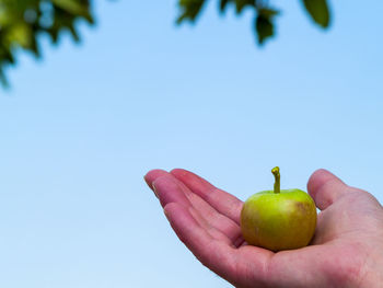
[[[383,207],[326,170],[310,177],[321,209],[306,247],[274,253],[241,235],[243,203],[186,170],[152,170],[154,191],[179,240],[209,269],[239,288],[374,288],[383,285]]]

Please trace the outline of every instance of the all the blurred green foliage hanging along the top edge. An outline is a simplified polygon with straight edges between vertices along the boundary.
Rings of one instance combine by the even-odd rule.
[[[326,0],[300,0],[312,20],[321,27],[328,27],[330,14]],[[207,0],[178,0],[181,14],[177,23],[195,22]],[[19,50],[40,57],[39,35],[46,34],[54,44],[65,32],[76,42],[80,41],[77,23],[80,20],[94,24],[92,0],[0,0],[0,81],[8,85],[4,68],[15,65]],[[263,45],[275,35],[275,18],[279,10],[267,0],[219,0],[224,13],[234,5],[237,14],[245,9],[254,11],[254,30],[257,42]]]

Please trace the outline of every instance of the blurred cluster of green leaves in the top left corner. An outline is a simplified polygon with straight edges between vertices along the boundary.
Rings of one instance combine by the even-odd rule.
[[[40,57],[45,33],[58,43],[65,31],[80,41],[79,20],[94,23],[91,0],[0,0],[0,84],[7,83],[5,69],[15,65],[19,49]],[[32,16],[31,16],[32,15]],[[48,23],[48,24],[47,24]]]

